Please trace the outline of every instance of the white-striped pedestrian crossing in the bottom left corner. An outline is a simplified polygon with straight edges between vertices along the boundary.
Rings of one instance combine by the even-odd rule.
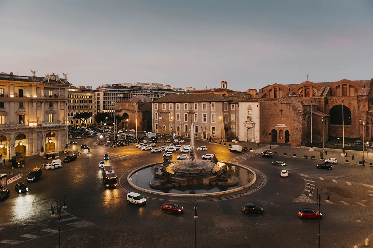
[[[61,226],[63,226],[63,230],[61,232],[66,232],[68,230],[84,228],[84,227],[95,225],[92,222],[73,216],[72,214],[69,214],[63,209],[61,210],[60,222],[61,222]],[[16,245],[16,244],[21,244],[23,242],[31,241],[31,240],[38,239],[38,238],[43,238],[44,236],[58,233],[58,216],[51,218],[49,221],[47,221],[47,223],[44,223],[44,224],[46,224],[49,228],[35,229],[29,233],[25,233],[19,236],[12,237],[11,239],[0,240],[0,248],[8,247],[11,245]]]

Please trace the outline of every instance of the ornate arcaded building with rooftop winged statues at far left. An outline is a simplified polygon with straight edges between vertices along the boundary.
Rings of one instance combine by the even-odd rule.
[[[0,73],[0,154],[36,155],[61,151],[68,143],[68,82],[45,77]]]

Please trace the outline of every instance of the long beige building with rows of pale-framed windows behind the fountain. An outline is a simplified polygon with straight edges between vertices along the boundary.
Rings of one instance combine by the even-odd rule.
[[[237,108],[232,98],[215,93],[165,95],[153,101],[153,131],[220,141],[236,137]]]

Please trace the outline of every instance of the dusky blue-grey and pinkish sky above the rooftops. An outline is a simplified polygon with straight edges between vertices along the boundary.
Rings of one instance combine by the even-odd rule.
[[[0,0],[0,72],[260,89],[370,79],[372,0]]]

